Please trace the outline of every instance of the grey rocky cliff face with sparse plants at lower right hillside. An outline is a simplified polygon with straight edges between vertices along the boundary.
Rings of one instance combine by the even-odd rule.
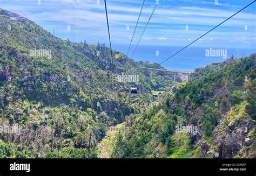
[[[229,122],[228,128],[223,119],[213,132],[212,144],[214,150],[203,151],[208,155],[214,154],[215,158],[255,158],[255,136],[250,132],[255,129],[256,121],[250,117]]]

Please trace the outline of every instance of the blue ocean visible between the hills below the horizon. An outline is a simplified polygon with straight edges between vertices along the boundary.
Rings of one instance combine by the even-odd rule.
[[[114,44],[112,45],[113,50],[127,53],[129,45]],[[153,46],[153,45],[139,45],[136,52],[133,54],[132,59],[135,61],[149,61],[160,64],[165,59],[169,58],[172,54],[181,50],[183,46]],[[205,67],[213,62],[221,62],[230,58],[233,53],[235,58],[242,56],[248,56],[252,53],[256,53],[256,48],[253,49],[241,49],[241,48],[226,48],[227,58],[224,57],[206,57],[206,50],[210,47],[187,47],[182,52],[178,53],[173,58],[164,62],[162,65],[165,68],[179,71],[193,71],[198,67]],[[219,49],[214,48],[212,49]],[[131,50],[128,57],[131,58],[134,46],[131,46]]]

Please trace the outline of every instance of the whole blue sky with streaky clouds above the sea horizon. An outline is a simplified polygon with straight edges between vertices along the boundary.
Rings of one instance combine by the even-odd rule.
[[[109,44],[104,0],[0,0],[0,8],[17,12],[55,36],[89,44]],[[185,46],[253,0],[160,0],[141,41],[142,45]],[[113,44],[129,45],[143,0],[107,0]],[[146,0],[134,44],[156,1]],[[194,46],[255,49],[256,3],[200,39]],[[67,26],[70,25],[70,30]],[[129,25],[130,30],[126,30]],[[188,30],[185,30],[185,26]],[[245,26],[248,27],[245,30]],[[256,49],[255,49],[256,50]]]

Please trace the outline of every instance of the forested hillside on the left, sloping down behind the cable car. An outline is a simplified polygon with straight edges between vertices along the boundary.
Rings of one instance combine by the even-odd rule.
[[[151,90],[172,86],[172,74],[150,73],[104,44],[89,46],[53,36],[31,20],[0,9],[1,158],[91,158],[106,127],[138,114]],[[138,83],[117,75],[139,75]],[[131,97],[137,86],[138,97]]]

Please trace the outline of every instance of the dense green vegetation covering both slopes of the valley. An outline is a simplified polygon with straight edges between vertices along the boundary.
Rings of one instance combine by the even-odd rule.
[[[141,67],[104,44],[59,39],[0,9],[0,158],[97,158],[107,126],[123,123],[102,146],[112,158],[255,157],[256,54],[173,75]],[[48,50],[50,55],[32,54]],[[139,75],[138,83],[117,75]],[[132,97],[130,88],[139,95]],[[165,91],[157,101],[151,92]],[[177,126],[196,126],[196,135]],[[1,129],[2,130],[2,129]],[[245,142],[246,138],[246,142]],[[103,148],[104,149],[104,148]]]

